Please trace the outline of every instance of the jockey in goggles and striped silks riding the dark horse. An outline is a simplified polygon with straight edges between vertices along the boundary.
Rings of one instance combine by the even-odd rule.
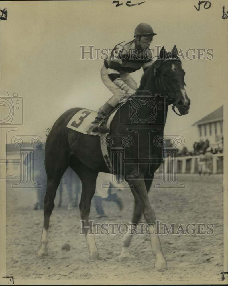
[[[141,23],[135,29],[135,39],[119,43],[105,59],[101,68],[101,80],[114,95],[99,108],[97,117],[87,131],[88,134],[97,131],[109,132],[107,127],[99,126],[100,121],[119,104],[126,93],[128,97],[135,94],[137,84],[129,73],[141,67],[145,71],[152,64],[149,46],[154,35],[157,34],[150,25]]]

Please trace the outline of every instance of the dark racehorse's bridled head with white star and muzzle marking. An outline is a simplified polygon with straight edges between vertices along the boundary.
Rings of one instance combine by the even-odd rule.
[[[184,89],[184,75],[181,61],[178,59],[176,46],[167,53],[162,47],[159,58],[154,65],[154,73],[162,92],[176,106],[181,115],[188,114],[190,99]]]

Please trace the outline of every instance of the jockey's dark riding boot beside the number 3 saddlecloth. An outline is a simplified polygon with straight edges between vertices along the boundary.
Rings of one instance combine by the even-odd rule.
[[[90,134],[91,132],[100,132],[100,133],[109,132],[109,128],[102,125],[99,126],[99,124],[101,120],[103,120],[104,117],[107,116],[113,109],[114,107],[107,102],[102,107],[100,107],[97,113],[97,117],[89,126],[87,133]]]

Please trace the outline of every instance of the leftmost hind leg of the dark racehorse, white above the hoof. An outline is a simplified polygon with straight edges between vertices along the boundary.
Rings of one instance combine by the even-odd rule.
[[[56,156],[48,154],[45,158],[45,168],[47,172],[47,190],[44,198],[44,226],[41,236],[41,248],[38,252],[39,256],[48,255],[48,228],[49,220],[54,208],[54,199],[56,196],[56,191],[59,186],[60,180],[66,171],[69,164],[69,155],[65,152],[58,150]],[[56,151],[57,152],[57,151]]]

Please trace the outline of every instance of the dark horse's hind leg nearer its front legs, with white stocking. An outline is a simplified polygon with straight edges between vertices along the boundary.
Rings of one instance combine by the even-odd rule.
[[[75,164],[76,163],[76,164]],[[97,259],[99,254],[97,245],[92,233],[93,223],[89,221],[91,200],[96,190],[96,180],[98,172],[92,170],[81,162],[72,162],[70,167],[78,174],[82,182],[82,194],[79,204],[82,220],[82,233],[86,236],[87,246],[89,248],[89,258]]]

